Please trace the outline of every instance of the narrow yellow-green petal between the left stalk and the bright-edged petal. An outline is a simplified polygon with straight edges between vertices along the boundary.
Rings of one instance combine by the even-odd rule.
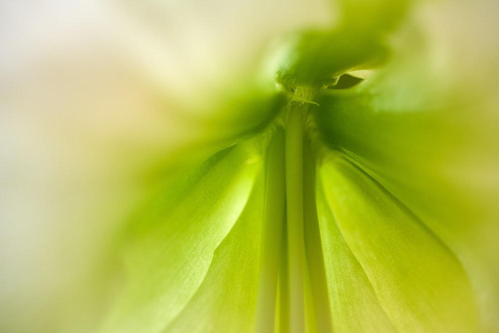
[[[164,332],[253,332],[264,197],[261,176],[238,221],[215,250],[203,284]]]

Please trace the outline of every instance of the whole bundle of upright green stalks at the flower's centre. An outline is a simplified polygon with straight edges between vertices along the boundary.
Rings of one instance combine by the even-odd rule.
[[[267,148],[257,333],[322,333],[332,328],[315,204],[314,153],[310,139],[304,138],[308,107],[291,101],[285,130],[278,127]]]

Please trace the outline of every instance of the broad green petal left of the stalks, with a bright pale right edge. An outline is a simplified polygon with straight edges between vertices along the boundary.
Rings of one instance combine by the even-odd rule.
[[[100,332],[160,332],[181,313],[243,212],[257,162],[248,144],[222,151],[138,214]]]

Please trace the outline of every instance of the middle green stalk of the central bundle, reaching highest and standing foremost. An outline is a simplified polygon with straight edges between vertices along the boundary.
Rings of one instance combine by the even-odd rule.
[[[308,105],[292,103],[286,124],[286,212],[289,332],[305,332],[303,238],[303,117]]]

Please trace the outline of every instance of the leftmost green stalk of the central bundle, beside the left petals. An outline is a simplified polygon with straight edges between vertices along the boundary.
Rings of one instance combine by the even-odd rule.
[[[285,212],[284,131],[276,130],[267,151],[265,206],[261,230],[256,333],[274,330],[277,272]]]

